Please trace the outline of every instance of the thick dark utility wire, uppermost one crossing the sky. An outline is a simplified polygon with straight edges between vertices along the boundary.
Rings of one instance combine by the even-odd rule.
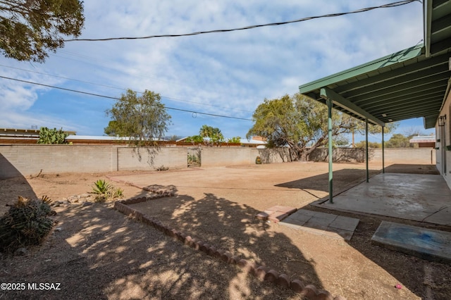
[[[396,7],[396,6],[402,6],[402,5],[405,5],[405,4],[410,4],[412,2],[420,2],[421,3],[421,0],[397,1],[397,2],[390,3],[390,4],[384,4],[384,5],[381,5],[381,6],[373,6],[373,7],[361,8],[361,9],[358,9],[357,11],[348,11],[348,12],[345,12],[345,13],[329,13],[327,15],[317,15],[317,16],[314,16],[314,17],[301,18],[301,19],[297,19],[297,20],[290,20],[290,21],[278,22],[278,23],[267,23],[267,24],[261,24],[261,25],[251,25],[251,26],[238,27],[238,28],[233,28],[233,29],[199,31],[199,32],[185,33],[185,34],[181,34],[181,35],[149,35],[149,36],[146,36],[146,37],[107,37],[107,38],[104,38],[104,39],[65,39],[64,42],[75,42],[75,41],[104,42],[104,41],[113,41],[113,40],[118,40],[118,39],[154,39],[154,38],[157,38],[157,37],[187,37],[187,36],[190,36],[190,35],[204,35],[206,33],[218,33],[218,32],[231,32],[231,31],[237,31],[237,30],[249,30],[249,29],[253,29],[253,28],[257,28],[257,27],[278,26],[278,25],[285,25],[285,24],[290,24],[290,23],[299,23],[299,22],[304,22],[304,21],[307,21],[307,20],[314,20],[314,19],[319,19],[319,18],[332,18],[332,17],[338,17],[340,15],[350,15],[352,13],[363,13],[365,11],[372,11],[372,10],[378,9],[378,8],[391,8],[391,7]]]

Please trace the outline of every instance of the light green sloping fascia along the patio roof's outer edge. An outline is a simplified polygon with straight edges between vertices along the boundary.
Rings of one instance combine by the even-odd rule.
[[[323,77],[319,80],[309,82],[305,85],[299,85],[300,94],[308,94],[310,92],[321,89],[321,87],[327,87],[328,85],[333,85],[336,82],[341,82],[344,80],[349,80],[353,77],[369,73],[371,71],[378,70],[380,68],[385,68],[396,63],[402,63],[403,61],[408,61],[409,59],[421,56],[424,53],[423,44],[418,44],[410,48],[398,51],[394,54],[384,56],[383,58],[378,58],[369,63],[364,63],[363,65],[358,65],[357,67],[344,70],[340,73],[335,73],[328,77]]]

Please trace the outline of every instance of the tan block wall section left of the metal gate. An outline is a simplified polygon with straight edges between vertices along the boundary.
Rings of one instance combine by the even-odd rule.
[[[155,153],[116,145],[0,145],[0,178],[63,172],[111,172],[186,168],[185,147],[162,147]],[[153,165],[152,165],[153,162]]]

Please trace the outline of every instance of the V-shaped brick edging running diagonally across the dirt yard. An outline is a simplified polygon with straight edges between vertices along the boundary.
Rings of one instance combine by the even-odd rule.
[[[174,196],[174,194],[171,192],[159,191],[159,194],[149,197],[116,201],[114,202],[114,208],[125,215],[129,215],[130,217],[135,218],[136,220],[144,224],[154,227],[156,230],[163,232],[169,237],[178,239],[180,242],[183,242],[183,244],[190,246],[193,249],[202,251],[209,256],[216,257],[221,261],[229,263],[230,265],[237,265],[246,273],[254,275],[261,281],[268,281],[280,287],[290,288],[310,300],[346,300],[346,298],[343,296],[334,297],[332,296],[332,294],[330,294],[330,292],[326,290],[316,289],[314,285],[304,285],[304,282],[302,282],[301,280],[290,280],[290,277],[288,277],[288,275],[279,274],[276,270],[270,270],[264,265],[257,265],[252,261],[247,261],[245,259],[240,259],[237,256],[233,256],[232,254],[230,254],[230,252],[223,249],[216,249],[215,246],[204,243],[199,239],[193,239],[189,235],[184,235],[178,230],[171,229],[170,227],[163,225],[163,223],[161,223],[159,220],[150,218],[147,215],[144,215],[142,212],[128,206],[128,204],[137,204],[147,200],[160,199],[168,196]]]

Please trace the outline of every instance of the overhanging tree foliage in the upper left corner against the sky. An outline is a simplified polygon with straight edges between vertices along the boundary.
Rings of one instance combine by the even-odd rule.
[[[48,52],[78,37],[85,17],[81,0],[1,0],[0,49],[18,61],[42,63]]]

